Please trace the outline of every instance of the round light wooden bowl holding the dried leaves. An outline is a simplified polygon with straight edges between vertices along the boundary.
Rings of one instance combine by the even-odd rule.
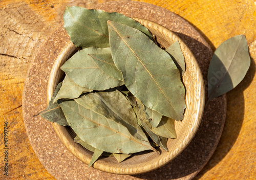
[[[152,151],[146,151],[147,153],[140,152],[121,163],[118,163],[114,157],[102,157],[93,165],[96,169],[115,174],[145,173],[157,169],[176,158],[193,139],[203,116],[205,102],[203,76],[197,60],[187,48],[186,44],[173,32],[155,22],[139,18],[134,19],[149,29],[156,36],[157,41],[162,47],[168,48],[177,40],[180,42],[186,64],[186,71],[182,80],[186,89],[185,102],[187,107],[185,109],[184,119],[182,121],[175,121],[177,139],[168,139],[167,147],[169,151],[160,149],[160,155]],[[57,84],[63,79],[63,72],[60,70],[60,66],[77,51],[78,49],[70,41],[56,58],[48,83],[48,102]],[[75,133],[73,130],[70,127],[59,126],[56,123],[52,124],[62,143],[78,159],[89,164],[93,152],[74,142]]]

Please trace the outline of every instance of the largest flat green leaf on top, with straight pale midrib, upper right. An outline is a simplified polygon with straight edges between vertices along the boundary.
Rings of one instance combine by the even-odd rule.
[[[148,108],[182,120],[185,88],[172,58],[140,31],[108,21],[113,60],[129,91]]]

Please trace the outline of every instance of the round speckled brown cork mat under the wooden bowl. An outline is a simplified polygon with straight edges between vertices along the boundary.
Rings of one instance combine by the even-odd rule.
[[[109,2],[97,9],[120,12],[127,16],[158,22],[174,31],[197,58],[204,79],[212,51],[203,37],[178,15],[140,2]],[[115,175],[87,168],[61,143],[50,122],[33,117],[47,107],[49,74],[60,50],[69,37],[62,28],[50,35],[39,48],[31,64],[23,94],[24,124],[38,159],[56,179],[191,179],[207,163],[214,152],[225,122],[226,96],[211,100],[205,108],[202,123],[195,138],[172,162],[152,172],[139,175]],[[207,84],[207,82],[205,81]],[[207,86],[206,86],[207,89]]]

